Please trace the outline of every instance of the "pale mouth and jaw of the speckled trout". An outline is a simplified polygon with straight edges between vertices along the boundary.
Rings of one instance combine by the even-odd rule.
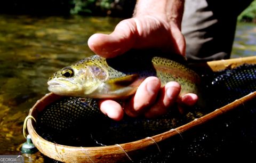
[[[76,83],[72,83],[66,80],[50,80],[47,81],[48,90],[50,92],[69,92],[78,89]]]

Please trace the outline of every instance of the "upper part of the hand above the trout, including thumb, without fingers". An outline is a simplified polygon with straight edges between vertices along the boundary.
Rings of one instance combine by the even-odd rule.
[[[157,48],[185,55],[185,38],[175,23],[145,15],[125,19],[110,34],[94,34],[88,40],[93,52],[105,58],[121,55],[131,48]]]

